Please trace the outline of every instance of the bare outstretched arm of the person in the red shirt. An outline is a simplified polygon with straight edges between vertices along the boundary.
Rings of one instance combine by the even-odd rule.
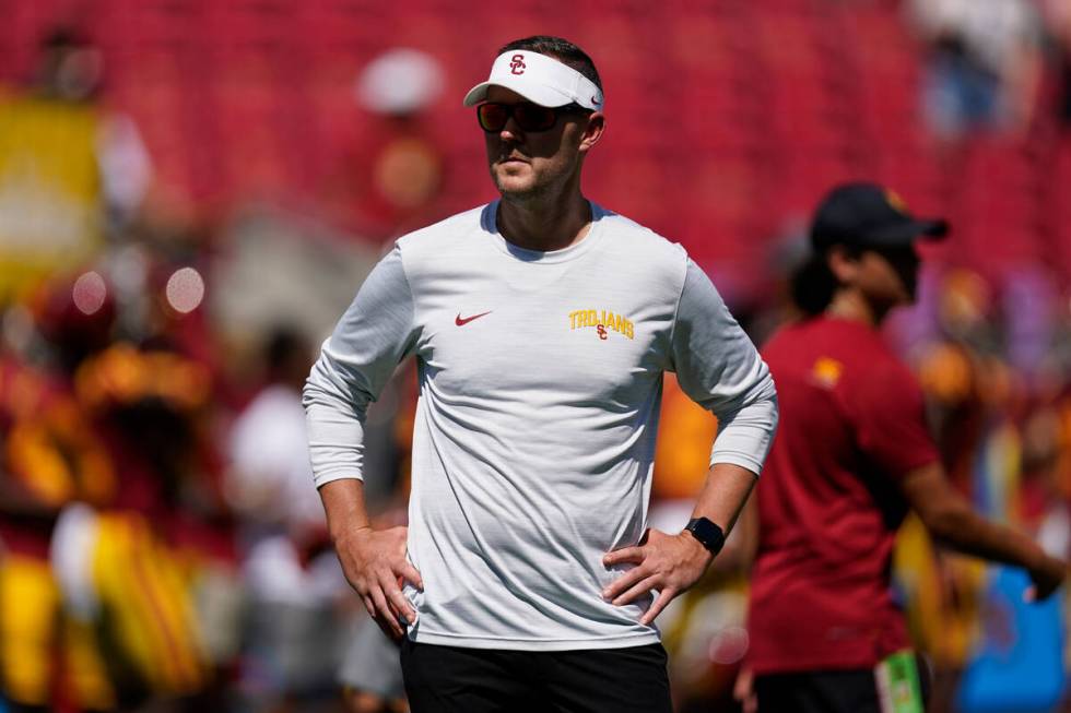
[[[1067,562],[1047,555],[1027,535],[975,512],[939,463],[909,472],[901,490],[938,542],[964,555],[1025,569],[1034,582],[1031,598],[1048,597],[1067,577]]]

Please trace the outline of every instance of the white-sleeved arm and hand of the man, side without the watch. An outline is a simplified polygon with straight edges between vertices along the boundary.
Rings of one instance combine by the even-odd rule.
[[[402,616],[416,614],[400,581],[422,587],[405,558],[408,530],[373,530],[364,499],[364,423],[398,363],[413,349],[413,297],[398,248],[369,273],[305,385],[313,475],[327,512],[328,532],[350,585],[390,635]]]

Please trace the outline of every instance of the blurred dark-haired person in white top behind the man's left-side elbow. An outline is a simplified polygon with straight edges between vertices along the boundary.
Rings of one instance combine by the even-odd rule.
[[[266,338],[264,385],[235,420],[225,489],[240,522],[247,614],[243,687],[258,711],[305,711],[336,694],[350,590],[330,551],[311,487],[302,385],[306,337],[280,326]]]

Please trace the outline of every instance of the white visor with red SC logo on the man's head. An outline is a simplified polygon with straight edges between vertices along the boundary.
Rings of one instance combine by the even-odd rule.
[[[487,87],[502,86],[529,102],[546,107],[576,103],[585,109],[602,110],[602,90],[572,67],[529,50],[517,49],[498,56],[491,76],[464,95],[464,106],[487,98]]]

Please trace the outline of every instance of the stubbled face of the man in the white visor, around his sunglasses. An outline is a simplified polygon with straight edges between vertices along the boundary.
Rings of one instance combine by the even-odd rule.
[[[527,102],[501,86],[487,90],[487,100],[510,105]],[[601,121],[601,115],[598,116]],[[580,114],[561,114],[546,131],[525,131],[510,117],[502,131],[485,131],[491,178],[503,198],[528,201],[578,176],[581,159],[590,147],[585,142],[585,129],[590,121],[591,117]]]

